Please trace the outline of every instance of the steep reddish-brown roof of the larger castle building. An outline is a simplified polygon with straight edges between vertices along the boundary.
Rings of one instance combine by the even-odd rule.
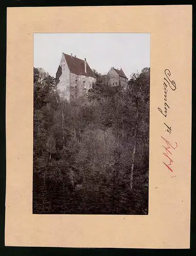
[[[63,53],[63,54],[64,54],[64,57],[66,58],[70,72],[77,74],[77,75],[96,77],[87,62],[86,62],[86,73],[85,73],[83,59],[76,58],[76,57],[68,55],[66,53]]]

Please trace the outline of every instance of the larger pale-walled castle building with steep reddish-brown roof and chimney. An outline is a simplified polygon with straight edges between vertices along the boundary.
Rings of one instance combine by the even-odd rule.
[[[88,93],[96,82],[96,76],[86,59],[62,53],[56,72],[57,91],[63,99],[69,101]]]

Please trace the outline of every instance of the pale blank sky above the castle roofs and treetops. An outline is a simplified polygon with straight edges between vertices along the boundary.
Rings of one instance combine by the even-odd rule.
[[[130,74],[150,67],[150,34],[90,33],[34,34],[34,67],[56,75],[62,52],[86,58],[91,69],[106,74],[122,67]]]

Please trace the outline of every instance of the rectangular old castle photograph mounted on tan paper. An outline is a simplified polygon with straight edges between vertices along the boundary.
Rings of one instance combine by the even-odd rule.
[[[33,214],[148,215],[150,34],[33,39]]]

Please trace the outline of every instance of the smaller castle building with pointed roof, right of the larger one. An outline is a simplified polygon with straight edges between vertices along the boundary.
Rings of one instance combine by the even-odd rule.
[[[108,71],[107,76],[109,77],[110,86],[122,86],[124,89],[127,89],[128,78],[122,68],[118,70],[112,67],[110,71]]]

